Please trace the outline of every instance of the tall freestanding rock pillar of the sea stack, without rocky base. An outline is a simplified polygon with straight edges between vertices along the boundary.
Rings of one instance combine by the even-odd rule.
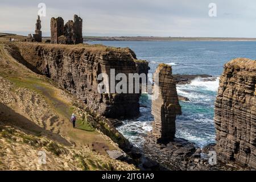
[[[152,101],[152,115],[154,115],[151,139],[155,142],[170,141],[175,138],[175,119],[181,114],[181,107],[177,96],[176,82],[172,77],[172,67],[160,64],[156,69],[159,81],[155,80],[154,93],[159,92],[156,100]]]

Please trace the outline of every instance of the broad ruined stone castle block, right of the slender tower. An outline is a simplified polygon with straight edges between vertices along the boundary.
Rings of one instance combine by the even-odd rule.
[[[82,38],[82,19],[74,15],[64,26],[61,17],[51,19],[51,42],[55,44],[80,44]]]

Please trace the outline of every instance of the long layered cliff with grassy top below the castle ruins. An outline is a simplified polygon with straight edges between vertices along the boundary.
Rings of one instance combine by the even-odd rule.
[[[97,92],[100,73],[110,69],[117,73],[148,71],[147,62],[137,63],[129,48],[105,46],[64,46],[17,43],[20,59],[52,78],[59,86],[75,94],[90,108],[110,118],[135,117],[139,114],[140,94],[100,94]]]

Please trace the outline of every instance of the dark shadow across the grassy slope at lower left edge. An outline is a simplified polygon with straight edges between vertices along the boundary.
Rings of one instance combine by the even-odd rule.
[[[61,144],[64,144],[65,146],[71,146],[71,143],[69,143],[60,135],[43,129],[42,127],[36,125],[23,115],[16,113],[9,106],[3,105],[2,103],[0,103],[0,118],[3,125],[20,127],[26,134],[36,135],[37,137],[43,136],[48,139],[57,141]]]

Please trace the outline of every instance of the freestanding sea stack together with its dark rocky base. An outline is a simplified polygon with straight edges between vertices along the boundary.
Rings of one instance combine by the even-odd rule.
[[[152,100],[153,129],[144,143],[144,152],[168,169],[193,169],[200,158],[200,150],[188,140],[175,138],[176,115],[181,114],[181,107],[176,90],[176,81],[172,76],[172,67],[160,64],[154,75],[154,97]],[[198,160],[198,159],[197,159]]]

